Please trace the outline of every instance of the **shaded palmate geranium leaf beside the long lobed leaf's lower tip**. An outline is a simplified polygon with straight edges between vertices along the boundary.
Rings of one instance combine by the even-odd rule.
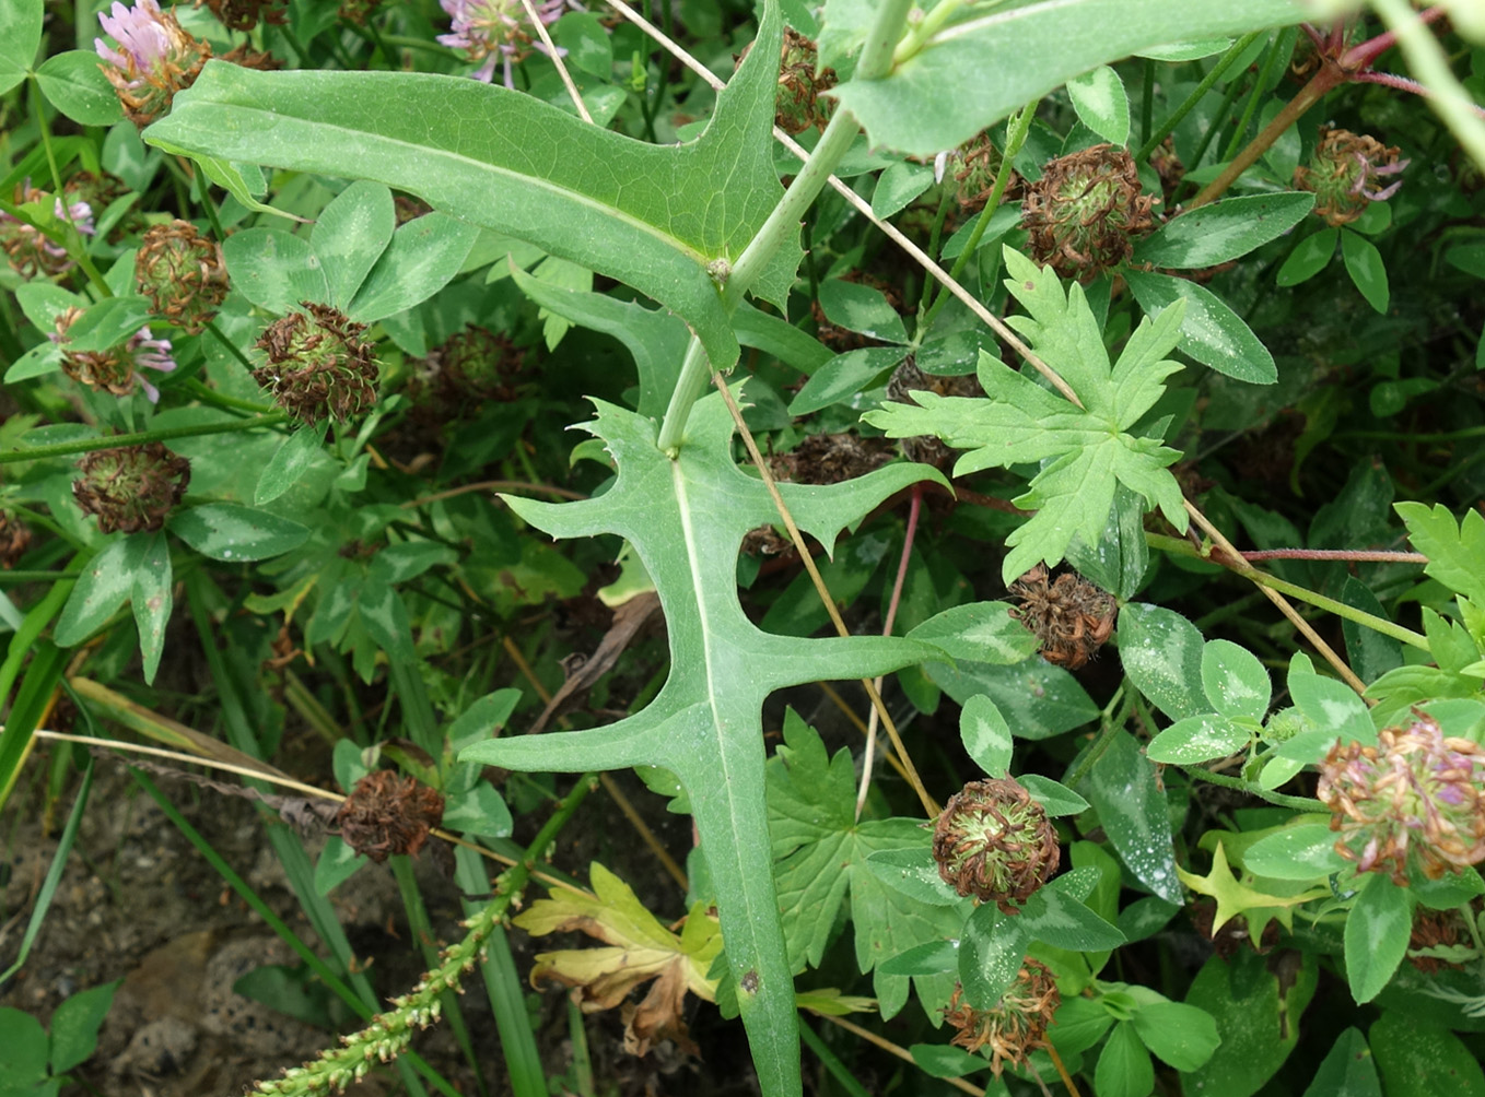
[[[921,819],[857,821],[851,751],[827,756],[815,730],[793,711],[784,718],[784,744],[768,763],[768,815],[790,963],[820,963],[849,895],[857,965],[873,972],[882,1015],[892,1017],[907,1001],[907,975],[885,974],[881,962],[919,941],[956,937],[964,911],[915,900],[867,867],[872,854],[921,849],[927,837]],[[946,1005],[953,993],[952,972],[916,981],[925,1009]]]

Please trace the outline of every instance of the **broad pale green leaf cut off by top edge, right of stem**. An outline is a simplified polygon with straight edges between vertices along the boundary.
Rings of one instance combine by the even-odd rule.
[[[988,7],[944,27],[885,79],[835,89],[873,145],[931,156],[1096,65],[1151,46],[1310,18],[1295,0],[1034,0]],[[854,50],[873,13],[867,0],[832,0],[821,64],[838,64]]]

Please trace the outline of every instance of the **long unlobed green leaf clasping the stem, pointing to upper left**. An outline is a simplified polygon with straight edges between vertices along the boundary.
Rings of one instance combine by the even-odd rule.
[[[717,368],[738,344],[707,275],[737,261],[778,203],[771,159],[783,21],[757,40],[707,131],[650,145],[530,95],[432,73],[263,73],[214,61],[146,134],[166,151],[376,180],[529,240],[674,309]],[[784,306],[797,238],[751,286]]]

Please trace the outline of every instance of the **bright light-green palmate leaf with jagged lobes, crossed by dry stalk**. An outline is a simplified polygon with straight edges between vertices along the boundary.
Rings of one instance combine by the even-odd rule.
[[[980,353],[985,398],[913,392],[919,407],[888,404],[866,420],[890,438],[937,435],[968,450],[955,475],[1011,465],[1041,465],[1016,505],[1037,514],[1007,537],[1001,574],[1011,582],[1032,564],[1062,561],[1074,537],[1097,543],[1118,484],[1145,499],[1179,530],[1187,528],[1181,488],[1166,466],[1181,454],[1155,438],[1129,433],[1164,392],[1181,365],[1164,358],[1181,337],[1182,303],[1145,319],[1109,368],[1097,321],[1072,285],[1062,289],[1051,267],[1005,248],[1007,288],[1026,309],[1008,322],[1078,393],[1083,407]]]

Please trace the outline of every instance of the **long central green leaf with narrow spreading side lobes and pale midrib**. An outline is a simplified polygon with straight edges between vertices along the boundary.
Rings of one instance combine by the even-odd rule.
[[[606,727],[493,739],[465,762],[517,770],[582,772],[661,766],[685,785],[717,891],[728,963],[769,1097],[800,1091],[793,977],[774,889],[765,805],[762,705],[777,689],[858,678],[943,658],[892,637],[800,640],[762,632],[742,613],[737,558],[742,536],[777,520],[762,481],[731,453],[732,420],[719,395],[696,404],[677,457],[655,445],[655,423],[594,401],[584,429],[618,465],[613,487],[578,503],[506,497],[554,537],[615,533],[655,582],[670,634],[670,675],[644,711]],[[892,465],[826,487],[781,484],[800,527],[832,551],[842,528],[909,484],[939,478]]]

